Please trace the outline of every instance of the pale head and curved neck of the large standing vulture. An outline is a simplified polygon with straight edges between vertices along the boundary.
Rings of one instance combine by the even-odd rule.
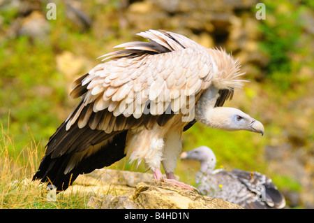
[[[218,70],[216,72],[219,74],[218,76],[220,76],[220,78],[223,76],[221,73],[226,77],[239,75],[239,65],[237,62],[234,62],[231,57],[225,55],[221,61],[223,62],[219,60],[216,62],[216,64],[220,64],[220,66],[216,68]],[[227,63],[228,66],[225,65],[225,63]],[[233,64],[231,68],[230,64]],[[232,85],[231,82],[236,80],[237,78],[234,80],[225,80],[223,85],[230,86]],[[222,85],[222,83],[220,83],[220,85]],[[233,86],[234,88],[239,88],[240,85],[241,82],[237,82],[237,84]],[[218,87],[211,86],[209,89],[206,89],[195,104],[195,120],[214,129],[222,129],[225,131],[247,130],[260,133],[263,136],[264,126],[261,122],[253,119],[250,115],[237,108],[222,107],[225,99],[229,96],[232,98],[234,88],[219,90]]]

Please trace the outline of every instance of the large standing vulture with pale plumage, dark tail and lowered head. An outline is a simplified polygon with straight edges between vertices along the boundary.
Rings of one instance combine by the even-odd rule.
[[[190,188],[174,180],[174,168],[181,134],[196,121],[263,134],[257,120],[220,107],[244,82],[225,51],[170,31],[138,35],[149,42],[117,45],[124,49],[103,55],[103,64],[75,80],[70,96],[81,101],[50,137],[34,180],[66,189],[80,173],[127,156],[144,160],[157,180]]]

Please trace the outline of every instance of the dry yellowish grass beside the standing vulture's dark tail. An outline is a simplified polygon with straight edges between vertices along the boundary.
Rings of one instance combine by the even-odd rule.
[[[49,201],[47,186],[32,182],[31,178],[43,156],[43,146],[31,136],[22,151],[15,150],[14,137],[9,129],[1,127],[0,138],[0,208],[88,208],[87,194],[57,195],[57,201]]]

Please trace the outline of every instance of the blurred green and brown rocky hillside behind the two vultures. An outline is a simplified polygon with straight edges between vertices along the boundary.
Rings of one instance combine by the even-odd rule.
[[[265,20],[255,17],[258,2],[0,0],[1,128],[15,150],[32,138],[44,150],[77,104],[68,96],[71,83],[99,64],[97,57],[142,40],[135,35],[140,31],[174,31],[239,58],[250,82],[225,106],[265,127],[261,137],[195,124],[183,135],[183,150],[207,145],[218,168],[265,173],[290,207],[314,208],[313,1],[262,1]],[[47,20],[47,3],[55,3],[56,20]],[[198,165],[179,161],[176,174],[193,184]]]

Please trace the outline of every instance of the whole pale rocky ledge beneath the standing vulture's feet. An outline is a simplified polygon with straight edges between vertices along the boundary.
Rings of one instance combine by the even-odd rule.
[[[179,177],[177,177],[179,180]],[[230,209],[233,203],[196,194],[167,182],[154,180],[151,173],[98,169],[80,175],[63,193],[93,195],[90,208],[102,209]]]

